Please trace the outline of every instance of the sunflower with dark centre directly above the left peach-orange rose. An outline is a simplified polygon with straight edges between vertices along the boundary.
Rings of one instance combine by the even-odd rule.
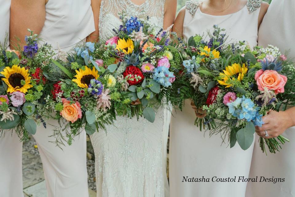
[[[91,79],[97,79],[99,77],[98,71],[95,69],[95,67],[88,68],[85,66],[85,70],[82,70],[81,68],[79,70],[76,70],[76,77],[75,79],[72,79],[73,82],[77,83],[79,87],[81,88],[88,88],[88,85],[90,84]]]

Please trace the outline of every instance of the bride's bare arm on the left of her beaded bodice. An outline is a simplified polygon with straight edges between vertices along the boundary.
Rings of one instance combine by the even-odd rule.
[[[86,42],[97,42],[99,38],[99,13],[100,13],[100,4],[101,0],[91,0],[91,7],[93,11],[93,17],[94,17],[94,25],[95,25],[95,31],[92,32],[86,39]]]

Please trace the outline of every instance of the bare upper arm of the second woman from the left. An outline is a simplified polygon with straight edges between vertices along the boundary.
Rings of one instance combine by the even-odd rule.
[[[26,45],[27,29],[40,34],[45,22],[45,4],[48,0],[11,0],[10,6],[10,48]]]

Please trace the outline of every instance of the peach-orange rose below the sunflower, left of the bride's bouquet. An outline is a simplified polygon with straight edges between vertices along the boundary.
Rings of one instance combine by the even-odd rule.
[[[69,122],[76,122],[78,118],[82,118],[81,105],[79,102],[70,104],[66,98],[62,98],[64,109],[60,112],[60,115]]]

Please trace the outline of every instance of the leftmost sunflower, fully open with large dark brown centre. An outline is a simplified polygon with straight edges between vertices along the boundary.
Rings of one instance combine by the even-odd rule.
[[[18,65],[13,65],[10,67],[5,67],[1,72],[4,75],[2,80],[7,84],[7,92],[13,93],[20,91],[26,93],[28,89],[33,87],[31,83],[31,77],[29,77],[29,70]]]

